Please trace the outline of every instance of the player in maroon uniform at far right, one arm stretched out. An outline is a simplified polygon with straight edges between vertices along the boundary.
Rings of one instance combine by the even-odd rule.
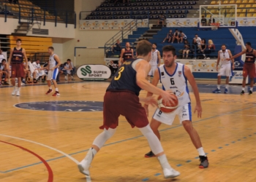
[[[254,50],[252,47],[251,42],[246,42],[245,47],[246,50],[243,50],[242,52],[238,53],[237,55],[234,55],[232,58],[228,58],[227,60],[232,60],[234,58],[238,58],[241,55],[246,54],[246,58],[244,61],[244,67],[243,67],[243,86],[242,91],[240,95],[244,95],[244,87],[246,84],[246,77],[249,76],[251,79],[250,82],[250,90],[249,95],[252,95],[253,90],[253,84],[254,84],[254,78],[256,76],[255,71],[255,58],[256,58],[256,50]]]

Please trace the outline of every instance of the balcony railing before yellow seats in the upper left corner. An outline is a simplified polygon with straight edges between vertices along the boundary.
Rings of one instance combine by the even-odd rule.
[[[48,9],[44,7],[21,7],[22,5],[12,5],[12,7],[7,6],[5,1],[0,0],[0,5],[4,9],[1,9],[0,15],[4,15],[4,22],[7,22],[7,17],[14,17],[19,19],[19,23],[22,20],[28,20],[29,23],[34,23],[34,20],[41,22],[45,25],[46,21],[51,21],[55,23],[65,23],[66,27],[68,24],[73,24],[76,28],[76,13],[67,11],[64,9]]]

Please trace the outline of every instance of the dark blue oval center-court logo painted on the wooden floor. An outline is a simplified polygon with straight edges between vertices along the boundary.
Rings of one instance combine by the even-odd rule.
[[[36,111],[103,111],[103,102],[96,101],[79,101],[79,100],[64,100],[64,101],[44,101],[31,103],[18,103],[17,108],[25,108]]]

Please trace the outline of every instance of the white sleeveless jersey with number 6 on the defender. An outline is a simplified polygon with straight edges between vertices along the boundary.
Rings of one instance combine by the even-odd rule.
[[[178,97],[178,106],[190,103],[187,78],[184,75],[184,65],[176,63],[176,70],[170,75],[165,70],[165,65],[159,66],[160,82],[163,90],[170,90]]]

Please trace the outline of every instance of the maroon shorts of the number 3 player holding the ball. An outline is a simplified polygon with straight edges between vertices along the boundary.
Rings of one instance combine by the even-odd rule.
[[[120,115],[125,116],[132,127],[146,127],[148,125],[145,108],[141,106],[139,98],[134,92],[129,90],[107,91],[103,104],[104,121],[99,128],[115,129],[118,126]]]

